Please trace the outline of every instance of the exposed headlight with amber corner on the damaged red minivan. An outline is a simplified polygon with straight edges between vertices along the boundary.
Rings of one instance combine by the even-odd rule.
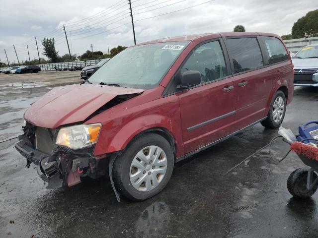
[[[101,124],[62,127],[56,138],[57,145],[80,149],[96,143]]]

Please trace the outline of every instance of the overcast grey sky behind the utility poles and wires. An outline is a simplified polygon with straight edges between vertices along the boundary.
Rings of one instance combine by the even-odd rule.
[[[291,33],[298,18],[318,8],[317,0],[214,0],[140,20],[206,1],[132,0],[137,43],[168,36],[233,31],[238,24],[244,25],[246,31],[284,35]],[[179,3],[172,4],[175,2]],[[81,55],[90,49],[90,44],[94,51],[104,53],[107,44],[110,49],[117,45],[131,46],[134,39],[127,3],[127,0],[0,0],[0,60],[6,62],[5,49],[9,61],[17,62],[13,44],[19,60],[28,58],[26,45],[30,58],[37,58],[35,36],[40,57],[44,57],[41,40],[45,36],[56,38],[60,56],[68,53],[63,24],[73,54]],[[155,9],[158,7],[162,8]],[[105,9],[108,10],[94,16]]]

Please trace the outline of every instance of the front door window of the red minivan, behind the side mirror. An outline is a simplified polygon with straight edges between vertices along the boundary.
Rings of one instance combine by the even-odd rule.
[[[201,73],[201,83],[214,81],[228,75],[224,54],[219,41],[206,43],[191,53],[181,72],[197,70]]]

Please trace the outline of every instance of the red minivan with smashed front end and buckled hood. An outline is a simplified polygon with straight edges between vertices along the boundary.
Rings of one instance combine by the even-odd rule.
[[[117,199],[147,199],[164,188],[174,163],[258,122],[278,127],[293,77],[274,34],[142,43],[84,84],[56,87],[34,102],[15,148],[48,188],[109,174]]]

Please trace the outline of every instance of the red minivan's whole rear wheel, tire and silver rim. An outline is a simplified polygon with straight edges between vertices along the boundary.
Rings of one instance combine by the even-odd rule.
[[[267,118],[261,121],[261,124],[266,128],[276,128],[281,125],[286,112],[286,97],[285,94],[278,90],[270,104]]]

